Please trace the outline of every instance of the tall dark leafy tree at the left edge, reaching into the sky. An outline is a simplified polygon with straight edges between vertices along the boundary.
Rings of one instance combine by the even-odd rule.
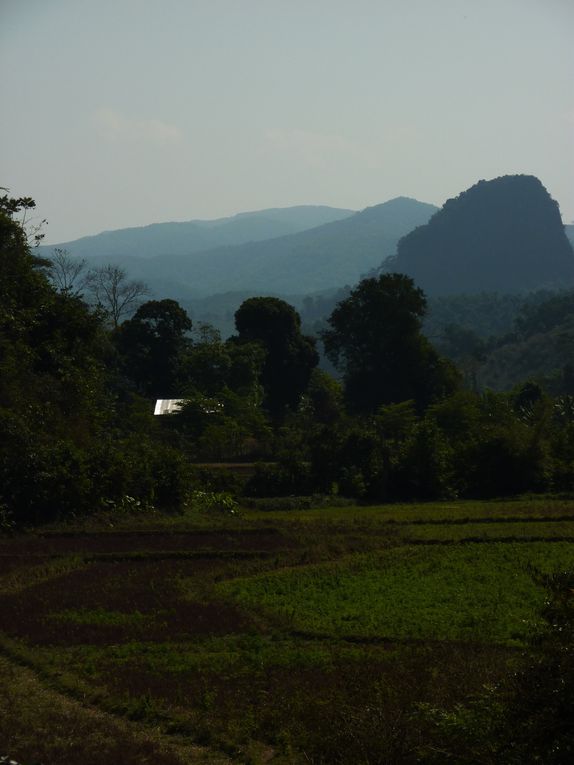
[[[19,210],[0,203],[0,504],[23,522],[85,509],[107,404],[99,318],[52,288]]]

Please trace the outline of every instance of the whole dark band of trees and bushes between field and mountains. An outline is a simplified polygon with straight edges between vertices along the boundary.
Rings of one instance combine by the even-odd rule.
[[[224,341],[176,301],[144,301],[115,267],[38,258],[19,218],[31,205],[0,199],[0,524],[175,510],[232,482],[198,465],[237,460],[259,463],[232,487],[247,496],[574,488],[574,398],[528,381],[472,390],[423,334],[426,297],[409,277],[364,279],[335,306],[319,338],[333,376],[283,300],[245,300]],[[156,398],[185,403],[154,417]]]

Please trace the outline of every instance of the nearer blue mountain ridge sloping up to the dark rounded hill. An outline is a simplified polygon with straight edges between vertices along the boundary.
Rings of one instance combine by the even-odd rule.
[[[158,241],[157,251],[164,254],[145,258],[129,254],[135,247],[121,252],[104,247],[106,238],[100,235],[91,238],[90,247],[97,240],[102,249],[90,250],[90,263],[121,265],[132,278],[146,281],[156,294],[176,299],[229,291],[302,295],[354,284],[381,257],[395,252],[399,239],[426,223],[436,210],[433,205],[399,197],[352,215],[340,210],[329,213],[345,212],[347,217],[263,241],[201,252],[185,249],[183,241],[177,251],[170,252],[167,243]],[[161,231],[149,228],[154,229],[154,236]],[[125,236],[124,232],[109,236],[112,234]],[[85,240],[79,240],[59,246],[86,257],[85,245]]]

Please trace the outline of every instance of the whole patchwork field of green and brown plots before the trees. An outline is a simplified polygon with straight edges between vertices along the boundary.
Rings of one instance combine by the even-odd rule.
[[[0,755],[424,762],[512,672],[574,500],[97,517],[0,537]]]

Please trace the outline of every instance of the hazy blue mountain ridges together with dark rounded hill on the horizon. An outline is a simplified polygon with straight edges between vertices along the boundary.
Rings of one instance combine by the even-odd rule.
[[[121,229],[60,247],[90,267],[122,266],[155,297],[188,310],[204,303],[204,314],[218,296],[222,307],[265,294],[300,302],[381,270],[412,276],[430,297],[562,289],[574,285],[572,229],[537,178],[513,175],[479,181],[440,210],[407,197],[356,213],[301,206]]]

